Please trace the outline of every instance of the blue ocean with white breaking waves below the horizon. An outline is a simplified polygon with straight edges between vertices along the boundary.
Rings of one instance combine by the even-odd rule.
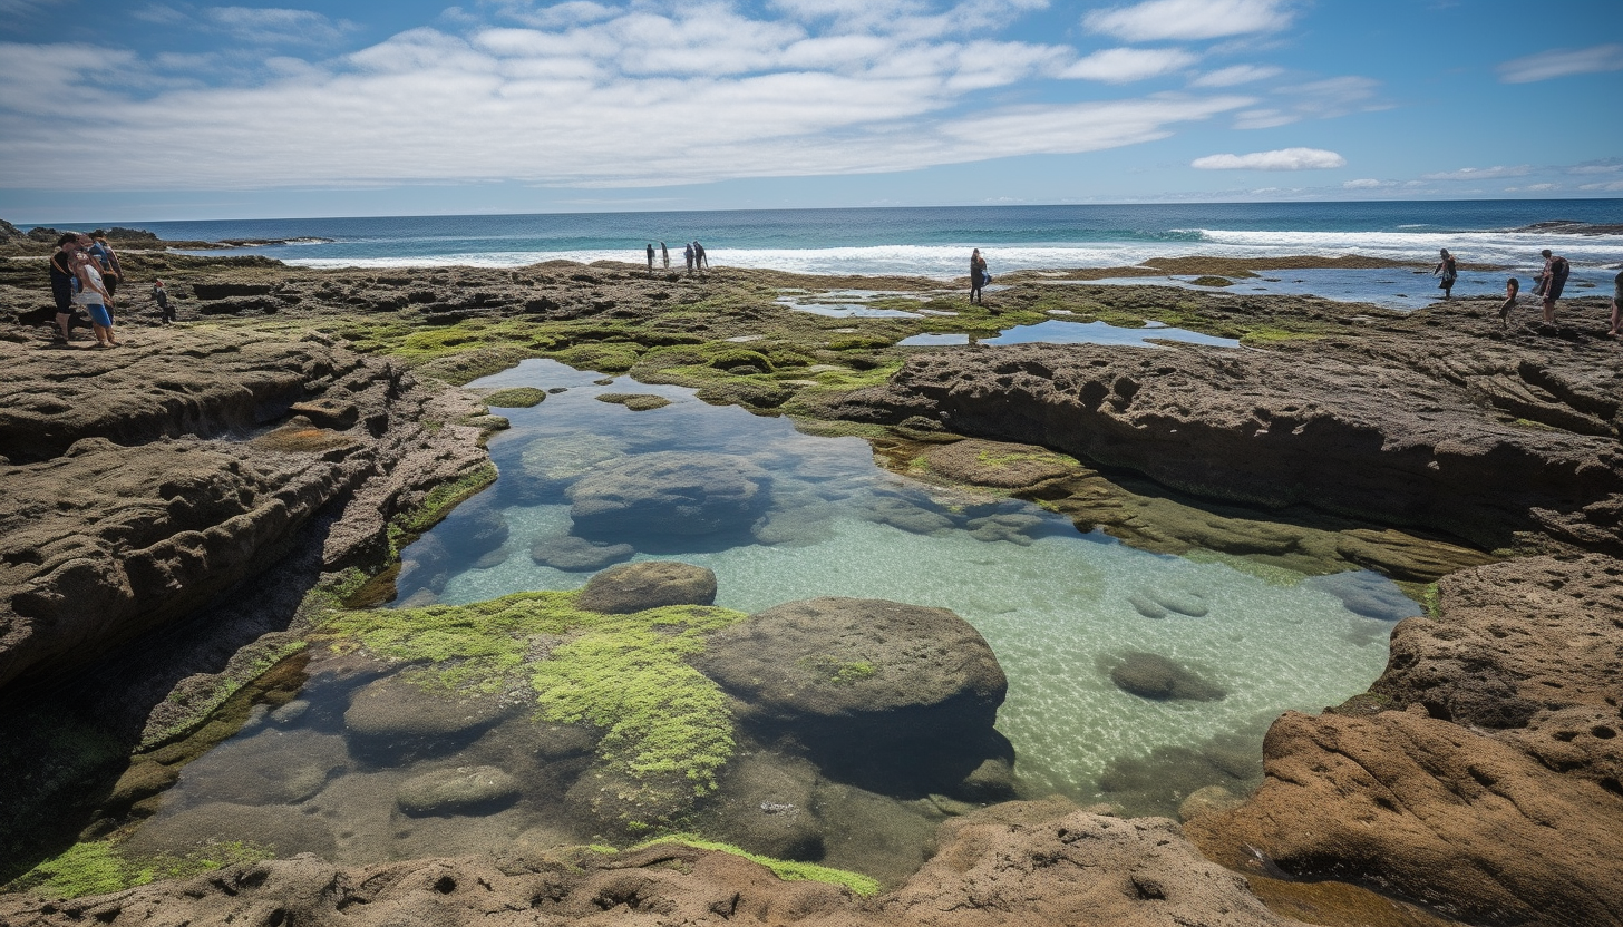
[[[738,209],[536,216],[388,216],[141,222],[172,240],[279,239],[245,248],[304,266],[519,266],[542,260],[643,261],[664,240],[701,240],[714,265],[803,273],[966,273],[982,248],[993,273],[1125,266],[1182,255],[1370,255],[1535,268],[1540,248],[1574,266],[1623,261],[1623,235],[1539,235],[1508,229],[1571,219],[1623,224],[1623,200],[1412,203],[1201,203],[1126,206],[940,206]]]

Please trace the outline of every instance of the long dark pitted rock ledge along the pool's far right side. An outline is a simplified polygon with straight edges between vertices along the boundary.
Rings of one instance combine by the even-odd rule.
[[[1613,370],[1584,380],[1475,341],[1436,359],[1446,336],[1423,351],[1415,341],[932,352],[826,412],[886,424],[923,416],[1196,495],[1307,503],[1483,547],[1537,529],[1623,552]],[[1535,424],[1501,420],[1495,406]]]

